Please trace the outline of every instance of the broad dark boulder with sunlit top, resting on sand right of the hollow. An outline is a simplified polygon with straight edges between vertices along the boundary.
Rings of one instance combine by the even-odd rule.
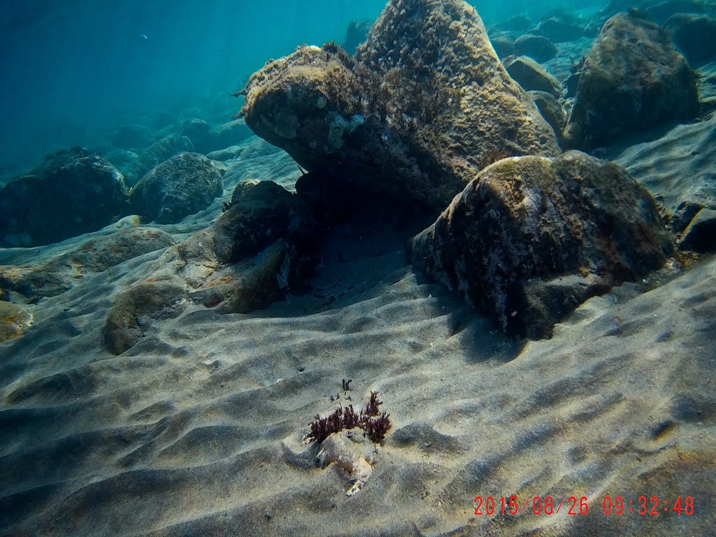
[[[527,337],[673,251],[647,190],[576,151],[485,168],[411,248],[417,267]]]

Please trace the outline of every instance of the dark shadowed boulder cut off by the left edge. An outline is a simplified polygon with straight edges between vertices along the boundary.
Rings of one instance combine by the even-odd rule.
[[[122,174],[89,150],[49,155],[0,190],[0,246],[39,246],[112,223],[127,210]]]

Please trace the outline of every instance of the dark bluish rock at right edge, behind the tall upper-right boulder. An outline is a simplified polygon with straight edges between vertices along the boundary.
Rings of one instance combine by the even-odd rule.
[[[716,57],[716,19],[707,15],[680,13],[664,24],[674,44],[691,64]]]

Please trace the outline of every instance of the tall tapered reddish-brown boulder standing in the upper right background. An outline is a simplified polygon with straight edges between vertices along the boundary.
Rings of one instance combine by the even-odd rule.
[[[586,57],[565,139],[589,150],[698,112],[695,74],[668,34],[620,14],[607,21]]]

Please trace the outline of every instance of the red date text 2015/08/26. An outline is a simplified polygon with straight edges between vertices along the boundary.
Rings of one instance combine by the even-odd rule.
[[[589,512],[586,496],[528,496],[524,500],[518,496],[475,496],[475,515],[556,515],[564,511],[567,515],[586,515]]]

